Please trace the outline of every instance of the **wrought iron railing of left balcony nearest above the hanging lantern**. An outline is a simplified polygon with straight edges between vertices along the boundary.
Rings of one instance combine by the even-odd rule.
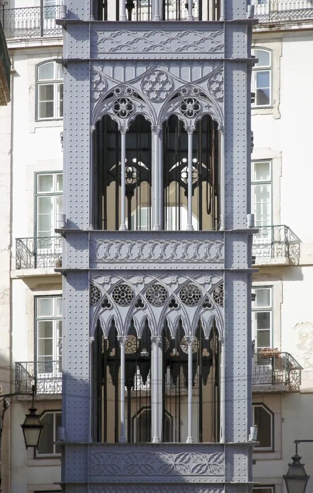
[[[38,394],[62,393],[62,360],[26,361],[15,363],[15,392],[31,394],[35,386]]]

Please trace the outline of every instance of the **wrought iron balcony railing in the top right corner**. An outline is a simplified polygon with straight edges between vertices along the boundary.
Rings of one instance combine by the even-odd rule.
[[[259,22],[313,20],[311,0],[252,0]]]

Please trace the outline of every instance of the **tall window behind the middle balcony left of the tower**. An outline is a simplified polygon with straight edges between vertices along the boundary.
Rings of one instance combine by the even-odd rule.
[[[63,175],[36,175],[36,237],[55,236],[59,214],[63,212]]]

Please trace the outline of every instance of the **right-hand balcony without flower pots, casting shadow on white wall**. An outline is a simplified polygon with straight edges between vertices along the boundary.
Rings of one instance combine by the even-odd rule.
[[[253,235],[252,263],[258,266],[285,266],[297,263],[299,240],[288,226],[258,226],[259,233]]]

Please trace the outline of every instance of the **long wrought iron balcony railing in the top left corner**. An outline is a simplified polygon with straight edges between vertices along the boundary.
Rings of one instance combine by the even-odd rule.
[[[62,27],[57,26],[60,6],[23,7],[19,9],[2,9],[2,24],[8,38],[28,38],[45,36],[62,36]]]

